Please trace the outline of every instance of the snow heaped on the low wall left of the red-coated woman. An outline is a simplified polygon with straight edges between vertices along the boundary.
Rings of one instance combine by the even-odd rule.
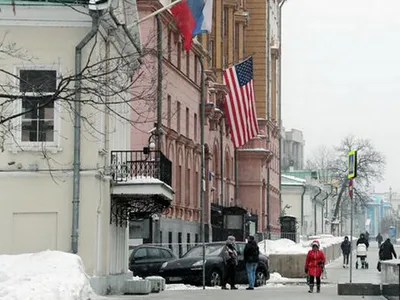
[[[258,243],[258,247],[260,252],[265,255],[307,253],[309,250],[303,247],[302,244],[296,244],[289,239],[264,240]]]

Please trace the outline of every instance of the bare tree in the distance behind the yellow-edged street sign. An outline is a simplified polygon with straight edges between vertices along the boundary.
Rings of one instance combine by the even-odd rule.
[[[374,182],[383,179],[385,157],[375,149],[370,140],[358,139],[354,136],[345,137],[339,146],[334,148],[320,148],[317,155],[307,162],[309,168],[323,174],[323,183],[336,182],[339,184],[338,195],[332,215],[332,228],[335,231],[341,204],[348,188],[348,157],[351,150],[357,150],[357,178],[355,180],[353,197],[358,206],[369,202],[369,191]],[[322,171],[321,171],[322,170]],[[327,182],[330,181],[330,182]]]

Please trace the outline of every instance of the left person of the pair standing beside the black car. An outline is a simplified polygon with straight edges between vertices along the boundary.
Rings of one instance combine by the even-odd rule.
[[[236,287],[236,266],[238,264],[237,251],[235,248],[235,237],[230,235],[226,240],[223,249],[224,274],[222,275],[222,289],[226,290],[226,284],[229,283],[231,290],[237,290]]]

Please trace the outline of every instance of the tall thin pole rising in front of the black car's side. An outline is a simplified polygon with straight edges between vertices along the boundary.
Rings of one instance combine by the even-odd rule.
[[[206,89],[206,80],[204,76],[204,61],[203,56],[199,56],[199,63],[200,63],[200,71],[201,71],[201,88],[200,88],[200,169],[201,169],[201,182],[200,182],[200,205],[201,205],[201,218],[200,218],[200,236],[203,248],[203,266],[205,265],[206,261],[206,244],[205,244],[205,218],[206,218],[206,208],[205,208],[205,153],[204,153],[204,123],[205,123],[205,89]],[[203,290],[206,288],[206,268],[203,268]]]

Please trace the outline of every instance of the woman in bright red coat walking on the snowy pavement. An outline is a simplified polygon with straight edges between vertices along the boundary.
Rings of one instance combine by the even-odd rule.
[[[305,272],[308,274],[310,286],[309,293],[314,290],[314,278],[317,281],[317,293],[321,291],[321,275],[325,265],[325,255],[319,250],[319,242],[314,240],[311,244],[312,249],[308,251],[306,258]]]

